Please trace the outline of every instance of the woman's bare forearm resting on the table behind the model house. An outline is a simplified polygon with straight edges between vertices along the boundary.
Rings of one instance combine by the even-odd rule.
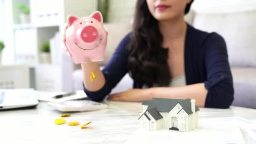
[[[150,97],[168,98],[168,99],[195,99],[198,107],[205,107],[207,89],[204,83],[186,85],[182,87],[158,87],[149,88]]]

